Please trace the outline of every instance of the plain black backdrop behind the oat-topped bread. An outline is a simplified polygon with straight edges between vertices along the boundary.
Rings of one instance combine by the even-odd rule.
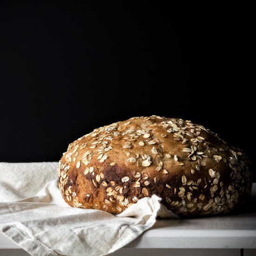
[[[250,9],[1,1],[0,161],[58,161],[94,128],[162,115],[212,129],[254,162]]]

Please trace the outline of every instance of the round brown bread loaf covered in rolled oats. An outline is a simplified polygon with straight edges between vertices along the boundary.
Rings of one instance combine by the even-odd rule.
[[[69,144],[59,169],[70,206],[115,214],[153,194],[178,215],[227,213],[251,184],[241,150],[201,125],[155,115],[94,129]]]

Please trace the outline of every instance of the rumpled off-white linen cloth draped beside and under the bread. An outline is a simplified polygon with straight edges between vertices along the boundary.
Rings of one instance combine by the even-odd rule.
[[[119,215],[70,207],[57,162],[0,162],[0,231],[31,255],[106,255],[130,243],[157,216],[177,217],[153,195]]]

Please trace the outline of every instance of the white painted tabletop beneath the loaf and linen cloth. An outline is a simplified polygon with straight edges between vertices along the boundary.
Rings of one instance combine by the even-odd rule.
[[[0,233],[0,249],[18,249]],[[229,216],[157,220],[155,226],[125,248],[256,249],[256,183],[243,211]]]

